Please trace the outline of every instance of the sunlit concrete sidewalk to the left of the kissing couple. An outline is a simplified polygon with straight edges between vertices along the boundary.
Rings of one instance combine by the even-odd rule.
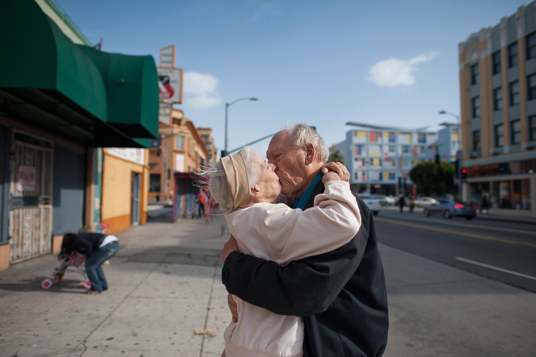
[[[55,256],[12,265],[0,272],[0,355],[219,357],[230,320],[220,273],[227,236],[221,216],[118,234],[121,250],[103,267],[110,287],[99,295],[86,295],[77,273],[41,288]]]

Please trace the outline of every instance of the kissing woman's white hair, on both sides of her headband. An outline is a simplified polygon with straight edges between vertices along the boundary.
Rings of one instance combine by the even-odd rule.
[[[240,151],[244,158],[245,168],[248,172],[249,188],[252,188],[257,183],[257,165],[254,161],[254,153],[247,146],[244,146]],[[209,191],[211,197],[218,202],[222,213],[227,214],[235,211],[233,206],[233,197],[231,196],[227,185],[227,175],[225,174],[224,165],[221,161],[207,166],[200,173],[199,183],[206,184],[206,179],[209,180]]]

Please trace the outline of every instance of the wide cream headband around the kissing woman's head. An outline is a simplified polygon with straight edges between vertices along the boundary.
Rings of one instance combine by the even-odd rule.
[[[248,206],[249,202],[249,180],[248,169],[240,152],[220,159],[224,165],[227,176],[227,187],[233,197],[233,207],[241,209]]]

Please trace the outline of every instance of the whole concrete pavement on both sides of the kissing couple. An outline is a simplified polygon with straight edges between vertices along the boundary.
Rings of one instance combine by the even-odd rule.
[[[225,220],[170,224],[158,215],[118,237],[102,294],[84,294],[77,273],[42,289],[58,266],[51,255],[0,272],[0,356],[221,355],[230,319],[220,279]],[[536,294],[386,246],[381,254],[385,356],[536,355]]]

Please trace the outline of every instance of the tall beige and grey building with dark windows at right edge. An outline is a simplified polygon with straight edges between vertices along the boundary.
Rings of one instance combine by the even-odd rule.
[[[536,217],[536,2],[459,44],[463,198]]]

